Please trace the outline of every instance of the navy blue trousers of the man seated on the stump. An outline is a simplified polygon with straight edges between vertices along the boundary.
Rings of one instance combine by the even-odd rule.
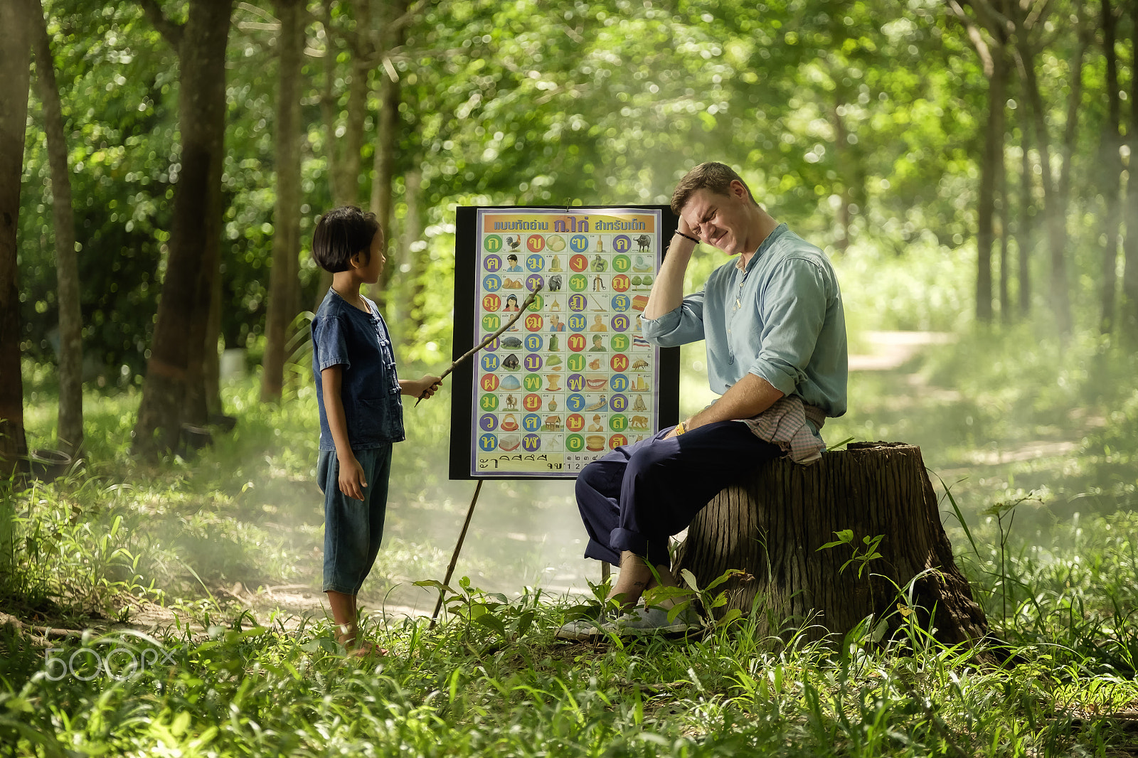
[[[585,558],[620,565],[621,551],[670,566],[668,538],[720,489],[783,454],[740,421],[719,421],[663,439],[671,427],[622,445],[577,475],[577,508],[588,532]]]

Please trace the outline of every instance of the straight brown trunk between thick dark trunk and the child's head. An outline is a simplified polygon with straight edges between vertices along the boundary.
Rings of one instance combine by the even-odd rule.
[[[269,314],[261,382],[263,402],[279,401],[284,385],[284,345],[296,315],[297,256],[300,254],[300,69],[304,64],[302,0],[277,0],[281,23],[277,49],[277,204],[273,208],[273,265],[269,271]]]

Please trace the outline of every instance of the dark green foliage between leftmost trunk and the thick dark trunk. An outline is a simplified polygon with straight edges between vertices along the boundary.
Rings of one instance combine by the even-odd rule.
[[[49,5],[80,249],[83,337],[141,368],[168,239],[176,66],[134,5]],[[30,114],[36,113],[35,88]],[[56,266],[47,143],[30,118],[19,217],[24,352],[52,355]],[[57,337],[55,337],[57,339]],[[139,357],[134,357],[139,356]]]

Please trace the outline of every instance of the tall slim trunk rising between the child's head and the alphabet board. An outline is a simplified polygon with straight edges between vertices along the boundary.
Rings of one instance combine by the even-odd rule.
[[[379,219],[387,249],[391,249],[391,207],[395,183],[395,154],[402,131],[399,129],[399,102],[403,92],[395,66],[389,58],[393,50],[403,46],[407,36],[407,0],[382,0],[382,50],[384,61],[379,74],[379,126],[376,133],[376,179],[371,186],[371,211]],[[404,252],[406,253],[406,252]],[[395,255],[395,258],[404,256]],[[388,287],[397,266],[386,266],[379,282],[379,305],[388,303]]]

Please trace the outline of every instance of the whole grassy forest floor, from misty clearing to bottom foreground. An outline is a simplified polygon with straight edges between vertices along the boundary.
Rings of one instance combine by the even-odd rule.
[[[686,641],[560,643],[553,631],[579,601],[535,587],[546,569],[579,565],[579,526],[567,487],[531,483],[484,491],[493,519],[459,570],[487,592],[461,591],[435,629],[368,613],[391,654],[346,659],[320,613],[251,618],[218,592],[319,580],[312,393],[264,406],[248,380],[225,390],[240,419],[231,436],[155,468],[126,453],[137,395],[90,394],[86,469],[5,493],[19,521],[0,608],[67,625],[163,602],[180,620],[149,640],[52,640],[84,677],[94,652],[163,651],[121,681],[52,681],[43,645],[0,627],[0,743],[42,756],[1132,755],[1136,366],[1090,338],[1061,353],[1029,335],[964,335],[905,371],[855,374],[851,412],[826,428],[832,440],[922,445],[949,486],[933,479],[957,560],[1014,656],[1004,667],[915,621],[882,644],[764,638],[745,620]],[[28,426],[48,440],[50,372],[30,373]],[[445,402],[409,409],[389,538],[369,579],[379,594],[442,578],[472,489],[446,480],[447,413]],[[1034,443],[1053,447],[1012,454]],[[511,524],[552,536],[510,550]]]

